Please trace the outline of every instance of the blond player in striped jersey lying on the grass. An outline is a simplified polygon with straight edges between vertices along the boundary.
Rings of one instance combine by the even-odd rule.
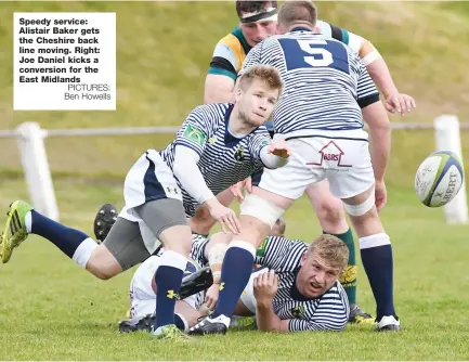
[[[204,245],[208,247],[210,242],[201,236],[194,240],[192,256],[199,255],[198,261],[201,262]],[[349,307],[338,276],[347,266],[348,253],[347,246],[334,235],[322,235],[310,245],[283,236],[266,237],[256,258],[262,267],[252,271],[234,314],[257,315],[258,328],[262,331],[343,329],[349,319]],[[154,261],[145,261],[132,280],[133,316],[120,323],[121,332],[147,329],[151,325],[147,321],[154,319],[151,313],[156,290],[151,286],[153,268],[149,264],[157,263],[158,257],[151,258]],[[201,303],[203,293],[177,302],[181,329],[193,326],[211,309],[217,298],[211,294],[216,292],[213,286],[223,289],[223,284],[211,284],[212,279],[206,275],[200,274],[206,281],[207,294],[210,293],[206,306]]]

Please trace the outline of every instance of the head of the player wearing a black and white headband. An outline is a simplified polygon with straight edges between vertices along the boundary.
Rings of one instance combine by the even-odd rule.
[[[249,46],[256,47],[274,35],[277,26],[276,1],[236,1],[240,29]]]

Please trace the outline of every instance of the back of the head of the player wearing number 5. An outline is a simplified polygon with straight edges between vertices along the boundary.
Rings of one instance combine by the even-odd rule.
[[[314,29],[317,8],[312,1],[285,1],[278,10],[278,33],[285,34],[295,27]]]

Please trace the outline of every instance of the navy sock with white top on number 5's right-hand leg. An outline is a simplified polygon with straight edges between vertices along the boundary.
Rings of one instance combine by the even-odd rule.
[[[376,320],[394,315],[392,247],[388,234],[375,234],[360,238],[363,267],[376,300]]]

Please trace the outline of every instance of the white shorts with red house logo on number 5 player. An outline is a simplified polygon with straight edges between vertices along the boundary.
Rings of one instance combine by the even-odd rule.
[[[368,133],[362,129],[276,137],[287,140],[290,160],[284,167],[264,169],[259,183],[261,189],[297,199],[311,183],[327,179],[336,197],[349,198],[375,183]]]

